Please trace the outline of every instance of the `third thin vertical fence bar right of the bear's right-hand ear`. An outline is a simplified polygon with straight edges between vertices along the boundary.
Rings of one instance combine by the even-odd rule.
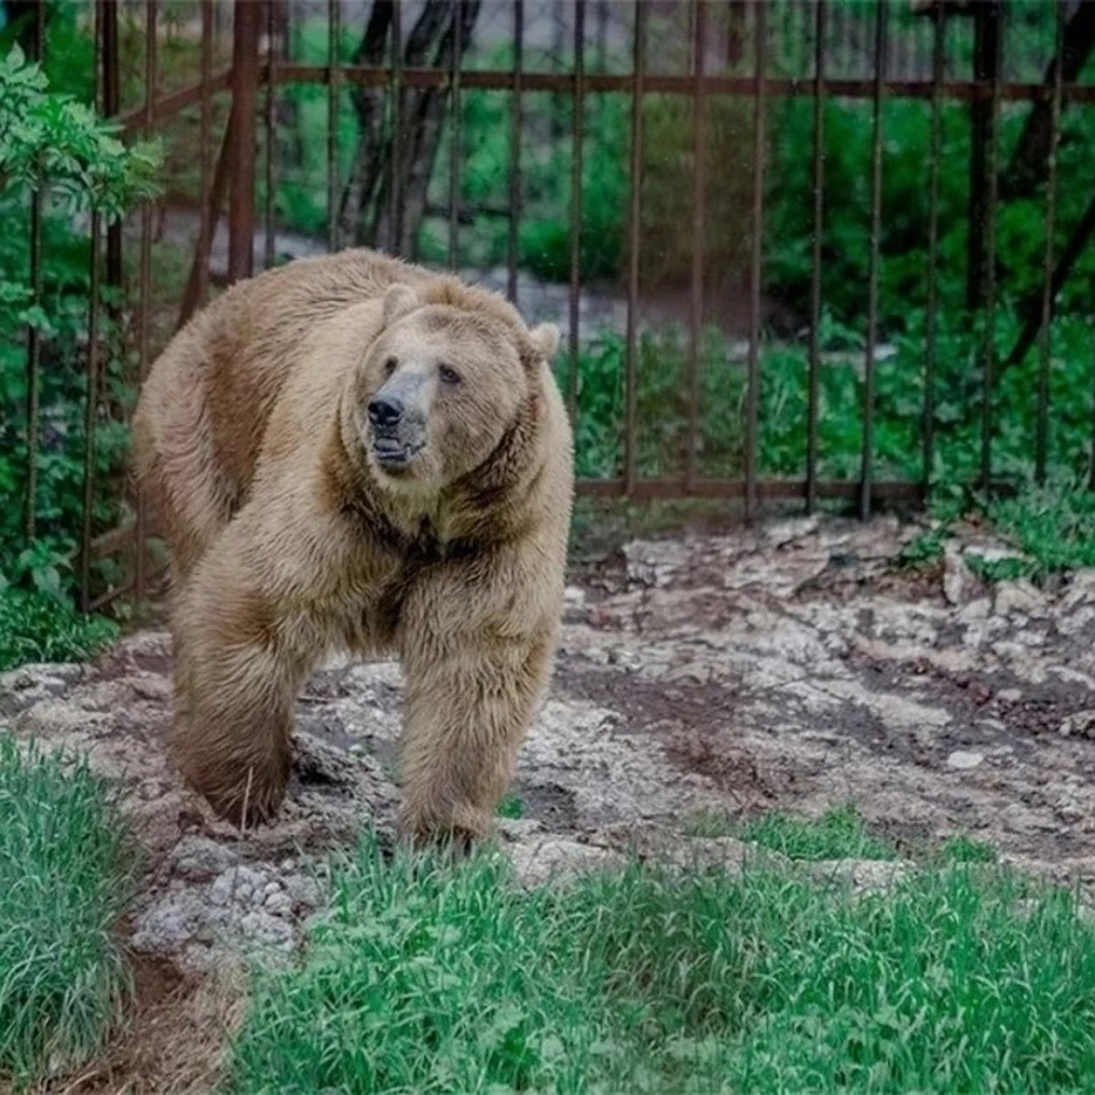
[[[705,0],[692,0],[692,270],[689,287],[688,424],[684,491],[695,489],[696,427],[700,417],[700,328],[703,325],[703,257],[706,230],[707,103],[703,91],[706,45]]]

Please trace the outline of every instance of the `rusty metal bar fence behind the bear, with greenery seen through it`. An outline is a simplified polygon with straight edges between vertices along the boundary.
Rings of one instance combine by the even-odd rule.
[[[593,497],[866,517],[941,480],[1095,486],[1073,291],[1095,233],[1092,8],[96,0],[77,19],[95,105],[161,138],[168,171],[155,204],[81,228],[84,607],[145,597],[158,567],[96,440],[155,354],[231,281],[356,244],[564,325]],[[34,42],[48,70],[45,4]],[[48,191],[28,200],[41,303]],[[28,326],[27,539],[44,337]]]

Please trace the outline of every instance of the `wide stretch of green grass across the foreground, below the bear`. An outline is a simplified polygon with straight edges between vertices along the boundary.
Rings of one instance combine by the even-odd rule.
[[[1085,1091],[1095,926],[995,866],[854,896],[758,862],[522,890],[366,839],[256,976],[237,1093]]]

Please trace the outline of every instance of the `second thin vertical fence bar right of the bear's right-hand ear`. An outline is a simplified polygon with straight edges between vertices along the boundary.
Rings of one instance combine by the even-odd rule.
[[[635,488],[638,464],[638,270],[643,226],[643,95],[646,76],[646,4],[635,3],[631,82],[631,210],[627,224],[627,343],[624,357],[624,492]]]

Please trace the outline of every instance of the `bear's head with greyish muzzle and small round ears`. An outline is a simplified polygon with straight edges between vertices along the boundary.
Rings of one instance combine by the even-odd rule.
[[[494,293],[438,277],[391,286],[355,374],[355,433],[377,479],[443,489],[487,461],[528,414],[558,328],[529,330]]]

